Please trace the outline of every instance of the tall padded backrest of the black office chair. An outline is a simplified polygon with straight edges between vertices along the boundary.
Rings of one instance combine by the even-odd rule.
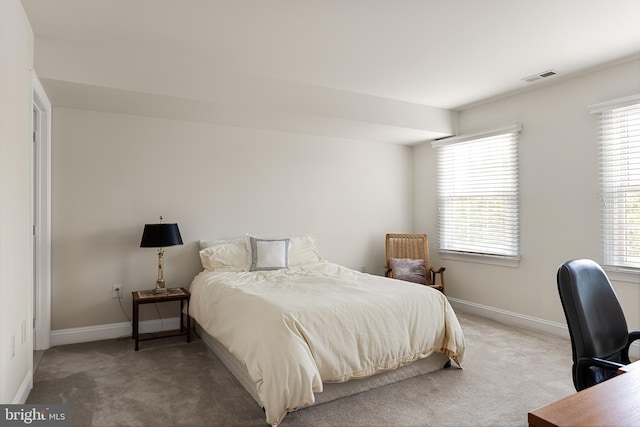
[[[629,335],[618,297],[602,268],[587,259],[558,269],[558,292],[567,319],[575,363],[582,357],[620,362]]]

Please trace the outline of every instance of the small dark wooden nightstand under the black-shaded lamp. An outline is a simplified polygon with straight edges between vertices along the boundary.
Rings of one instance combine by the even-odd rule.
[[[167,289],[167,293],[165,295],[156,295],[153,290],[149,291],[133,291],[131,292],[133,296],[133,335],[132,338],[135,340],[135,350],[138,351],[138,342],[153,340],[158,338],[167,338],[167,337],[175,337],[179,335],[186,335],[187,342],[191,342],[191,318],[188,314],[189,309],[189,299],[191,298],[191,293],[185,288],[171,288]],[[160,335],[144,337],[140,338],[140,333],[138,330],[139,326],[139,317],[138,311],[140,308],[140,304],[151,304],[151,303],[159,303],[159,302],[169,302],[169,301],[180,301],[180,329],[177,331],[167,331],[163,332]],[[187,314],[183,313],[184,303],[187,303]],[[184,317],[187,317],[187,327],[184,325]]]

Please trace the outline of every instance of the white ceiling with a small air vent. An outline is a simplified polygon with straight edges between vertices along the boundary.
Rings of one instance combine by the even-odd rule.
[[[638,0],[22,3],[36,47],[193,56],[228,74],[450,110],[640,53]],[[549,69],[557,76],[522,81]]]

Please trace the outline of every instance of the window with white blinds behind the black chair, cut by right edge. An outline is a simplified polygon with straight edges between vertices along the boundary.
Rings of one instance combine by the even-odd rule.
[[[591,111],[600,114],[604,264],[640,268],[640,96]]]

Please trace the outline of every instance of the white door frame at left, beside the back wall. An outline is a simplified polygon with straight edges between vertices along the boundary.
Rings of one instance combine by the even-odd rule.
[[[34,123],[31,115],[31,135],[39,142],[31,145],[31,179],[34,180],[31,211],[35,221],[32,337],[33,350],[46,350],[51,346],[51,102],[33,70],[31,87],[31,109],[38,111],[38,123]]]

